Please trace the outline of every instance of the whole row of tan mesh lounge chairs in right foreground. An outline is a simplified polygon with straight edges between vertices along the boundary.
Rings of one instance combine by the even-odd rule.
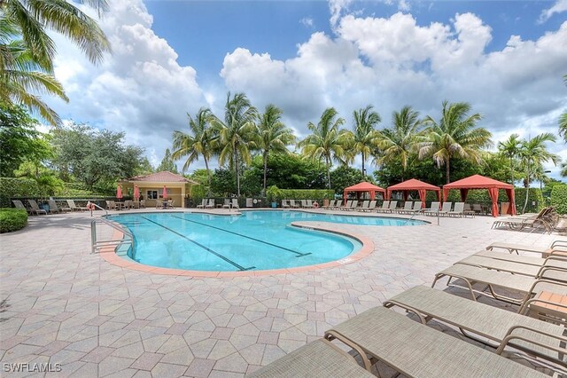
[[[510,254],[493,248],[508,249]],[[563,376],[567,372],[567,240],[537,250],[547,258],[511,254],[518,250],[524,248],[488,246],[436,274],[432,287],[412,287],[250,376],[370,377],[377,361],[408,377],[549,377],[534,365]],[[442,277],[449,278],[447,284],[469,290],[472,300],[433,288]],[[485,288],[478,290],[479,286]],[[496,294],[498,289],[518,296]],[[518,311],[479,303],[477,295],[514,303]],[[409,312],[416,320],[391,308]],[[493,350],[428,327],[431,320]],[[334,340],[353,351],[339,349],[337,343],[330,343]],[[353,355],[361,358],[362,366]],[[514,359],[505,357],[510,355]]]

